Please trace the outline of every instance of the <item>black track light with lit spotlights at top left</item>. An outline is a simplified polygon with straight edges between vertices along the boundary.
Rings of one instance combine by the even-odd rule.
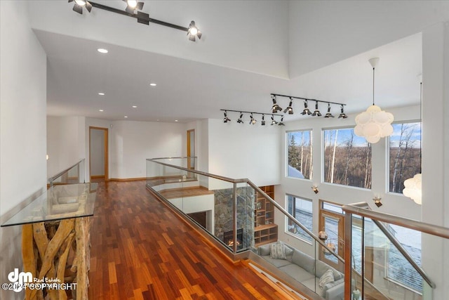
[[[72,2],[72,1],[74,1],[74,0],[69,0],[69,2]],[[135,18],[141,24],[149,25],[149,23],[151,22],[151,23],[154,23],[154,24],[159,24],[159,25],[163,25],[163,26],[166,26],[166,27],[170,27],[170,28],[173,28],[175,30],[181,30],[183,32],[187,32],[187,36],[189,37],[190,41],[195,41],[195,37],[198,37],[199,39],[201,39],[201,32],[198,30],[198,28],[196,28],[194,21],[190,22],[189,27],[184,27],[184,26],[175,25],[175,24],[172,24],[172,23],[169,23],[169,22],[164,22],[164,21],[161,21],[161,20],[156,20],[156,19],[153,19],[153,18],[149,18],[149,14],[148,13],[142,13],[142,11],[138,11],[137,13],[130,13],[129,11],[131,11],[131,10],[128,9],[128,6],[127,6],[127,11],[122,11],[122,10],[120,10],[118,8],[113,8],[113,7],[110,7],[110,6],[103,5],[103,4],[95,3],[93,1],[83,1],[83,3],[84,4],[82,6],[80,6],[78,4],[78,2],[76,2],[75,6],[74,6],[74,11],[76,11],[77,13],[81,13],[82,14],[83,13],[83,11],[82,11],[82,7],[83,6],[86,6],[86,8],[88,9],[89,13],[91,12],[92,7],[100,8],[100,9],[105,10],[105,11],[110,11],[112,13],[119,13],[120,15],[127,15],[128,17]],[[139,2],[139,3],[141,3],[141,2]],[[142,7],[143,7],[143,3],[140,6],[136,7],[136,8],[137,9],[142,9]]]

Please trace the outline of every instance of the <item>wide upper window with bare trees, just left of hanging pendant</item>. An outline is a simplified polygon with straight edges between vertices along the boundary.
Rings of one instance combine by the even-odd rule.
[[[371,188],[371,144],[354,129],[324,130],[324,182]]]

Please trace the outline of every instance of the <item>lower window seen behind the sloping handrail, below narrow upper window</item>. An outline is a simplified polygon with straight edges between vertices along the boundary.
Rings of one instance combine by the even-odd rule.
[[[287,195],[287,211],[291,214],[297,221],[300,221],[305,228],[312,230],[312,204],[311,200],[302,199],[296,196]],[[287,228],[289,233],[293,233],[301,240],[312,242],[312,237],[307,234],[302,228],[297,226],[295,223],[290,221],[287,217]]]

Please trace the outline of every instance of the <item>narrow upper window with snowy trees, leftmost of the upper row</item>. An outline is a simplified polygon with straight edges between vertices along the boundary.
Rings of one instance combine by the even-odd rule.
[[[287,176],[311,179],[311,131],[291,131],[287,133]]]

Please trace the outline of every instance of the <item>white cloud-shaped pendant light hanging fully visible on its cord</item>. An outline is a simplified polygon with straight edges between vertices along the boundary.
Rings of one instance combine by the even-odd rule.
[[[373,105],[368,107],[365,112],[356,116],[354,133],[356,133],[356,136],[366,138],[368,143],[377,143],[380,141],[380,138],[384,138],[393,133],[391,122],[393,122],[394,117],[390,112],[385,112],[374,104],[374,74],[379,58],[371,58],[368,61],[373,67]]]

